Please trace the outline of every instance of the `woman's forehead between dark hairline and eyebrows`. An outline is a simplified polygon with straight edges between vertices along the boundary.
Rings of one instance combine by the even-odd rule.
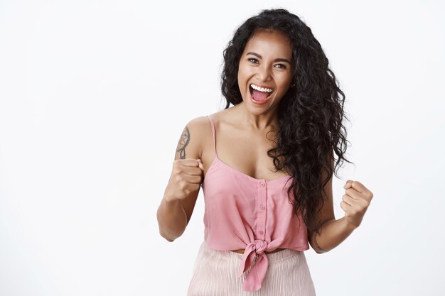
[[[247,41],[244,53],[259,53],[260,55],[279,55],[291,59],[292,49],[289,38],[277,31],[257,31]]]

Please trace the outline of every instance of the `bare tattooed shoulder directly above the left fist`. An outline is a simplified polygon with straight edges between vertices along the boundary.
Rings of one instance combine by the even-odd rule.
[[[179,138],[175,159],[201,158],[207,130],[206,116],[199,116],[188,121]]]

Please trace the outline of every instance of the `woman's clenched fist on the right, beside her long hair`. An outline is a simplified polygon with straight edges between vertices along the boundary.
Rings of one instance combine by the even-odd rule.
[[[358,181],[348,180],[343,188],[346,193],[343,195],[340,207],[345,211],[346,221],[357,228],[362,223],[373,194]]]

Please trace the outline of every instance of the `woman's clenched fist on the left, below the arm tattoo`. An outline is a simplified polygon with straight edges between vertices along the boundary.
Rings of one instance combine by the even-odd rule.
[[[204,165],[200,159],[186,158],[173,161],[170,180],[166,187],[166,197],[183,199],[199,190],[203,180]]]

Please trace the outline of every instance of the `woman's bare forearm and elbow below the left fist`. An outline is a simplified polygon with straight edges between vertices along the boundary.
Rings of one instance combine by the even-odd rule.
[[[156,213],[159,234],[167,241],[174,241],[181,236],[187,226],[187,214],[181,199],[170,199],[164,195]]]

